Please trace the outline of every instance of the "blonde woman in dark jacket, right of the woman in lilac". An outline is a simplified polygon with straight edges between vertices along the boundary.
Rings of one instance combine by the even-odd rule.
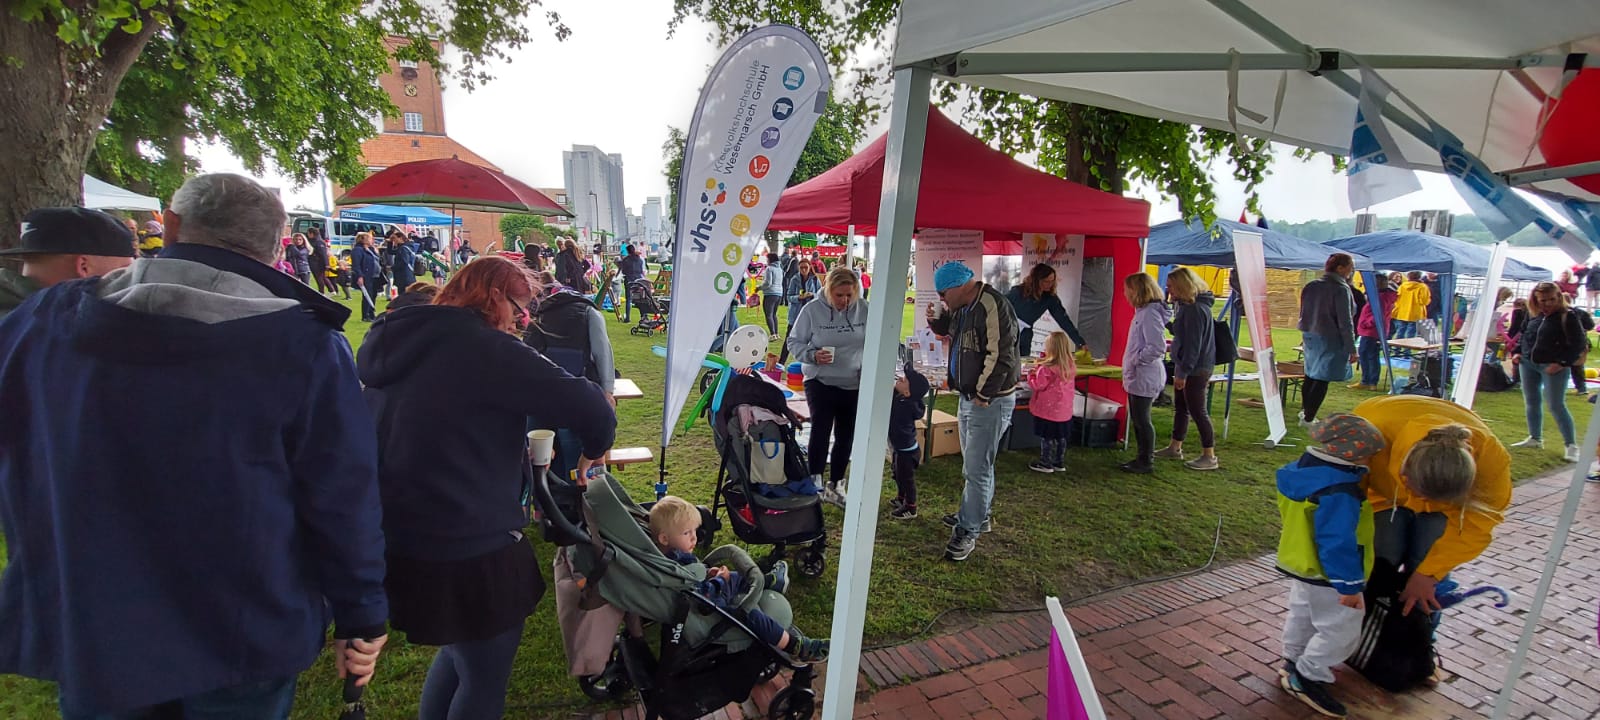
[[[1166,294],[1178,312],[1168,328],[1173,331],[1173,440],[1155,458],[1184,459],[1184,437],[1189,419],[1200,430],[1200,458],[1184,462],[1190,470],[1216,470],[1216,434],[1205,408],[1205,390],[1216,368],[1216,331],[1211,306],[1216,296],[1194,270],[1179,267],[1166,275]]]

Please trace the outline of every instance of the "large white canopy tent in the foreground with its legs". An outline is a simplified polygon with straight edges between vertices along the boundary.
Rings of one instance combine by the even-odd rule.
[[[1576,53],[1594,51],[1595,56]],[[1384,106],[1405,162],[1440,166],[1437,122],[1514,186],[1597,200],[1562,178],[1600,173],[1600,160],[1544,166],[1536,147],[1542,98],[1565,67],[1600,67],[1594,0],[904,0],[885,162],[878,253],[883,298],[906,293],[912,219],[934,74],[1123,112],[1229,128],[1347,154],[1358,64],[1376,70],[1427,117]],[[1600,238],[1590,238],[1600,242]],[[890,312],[883,312],[888,307]],[[882,458],[898,306],[872,304],[858,408],[858,458]],[[1600,406],[1597,406],[1600,413]],[[1504,717],[1544,597],[1578,510],[1600,427],[1590,424],[1528,626],[1496,704]],[[883,483],[877,462],[850,469],[834,613],[829,688],[853,688]],[[1003,483],[1002,483],[1003,485]],[[971,562],[982,562],[979,555]],[[930,558],[934,562],[934,558]],[[829,693],[822,717],[851,717],[854,693]]]

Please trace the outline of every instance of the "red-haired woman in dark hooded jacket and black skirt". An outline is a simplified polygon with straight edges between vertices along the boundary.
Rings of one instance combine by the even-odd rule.
[[[378,421],[390,624],[440,646],[424,720],[504,712],[523,622],[544,594],[523,536],[528,416],[558,408],[581,443],[579,477],[616,434],[598,386],[522,342],[536,291],[520,264],[478,258],[434,304],[378,318],[357,362]]]

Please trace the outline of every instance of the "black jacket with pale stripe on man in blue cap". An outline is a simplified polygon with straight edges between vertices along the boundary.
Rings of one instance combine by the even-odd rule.
[[[989,402],[1016,392],[1022,379],[1016,310],[998,290],[978,283],[971,302],[930,320],[928,328],[952,338],[949,379],[962,397]]]

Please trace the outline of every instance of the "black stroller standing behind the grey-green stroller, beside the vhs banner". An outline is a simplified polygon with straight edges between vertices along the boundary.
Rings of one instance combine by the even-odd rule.
[[[773,546],[763,565],[784,558],[789,546],[806,546],[797,570],[818,578],[826,568],[827,528],[822,499],[795,440],[800,419],[781,389],[760,378],[733,373],[712,435],[722,464],[712,514],[728,509],[741,541]]]

